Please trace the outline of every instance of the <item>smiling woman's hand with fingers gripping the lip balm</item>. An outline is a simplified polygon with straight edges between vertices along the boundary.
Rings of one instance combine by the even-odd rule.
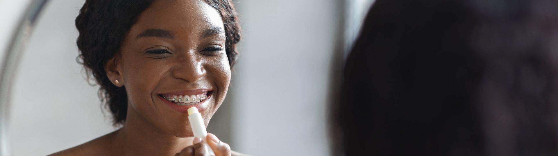
[[[201,140],[200,138],[194,138],[194,144],[186,147],[176,153],[176,155],[210,155],[209,150],[213,150],[215,156],[230,156],[229,144],[221,142],[215,135],[208,133],[205,137],[207,142]]]

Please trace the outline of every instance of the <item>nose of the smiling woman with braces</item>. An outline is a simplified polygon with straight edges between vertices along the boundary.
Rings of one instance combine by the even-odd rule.
[[[205,69],[200,59],[187,55],[178,60],[177,67],[173,70],[172,76],[184,79],[187,82],[195,82],[205,76]]]

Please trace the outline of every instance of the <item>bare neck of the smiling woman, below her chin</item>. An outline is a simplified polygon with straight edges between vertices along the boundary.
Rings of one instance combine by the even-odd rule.
[[[112,139],[112,151],[116,155],[174,155],[191,145],[193,139],[175,137],[128,108],[124,126]]]

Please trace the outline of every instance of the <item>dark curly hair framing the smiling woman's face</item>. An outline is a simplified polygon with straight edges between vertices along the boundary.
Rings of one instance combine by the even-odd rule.
[[[237,60],[236,44],[240,41],[240,24],[231,0],[205,0],[223,18],[225,52],[230,67]],[[75,19],[78,28],[78,62],[85,67],[88,80],[90,76],[100,84],[99,98],[113,115],[113,124],[121,125],[126,121],[128,97],[124,87],[113,85],[105,73],[104,64],[119,52],[121,43],[136,23],[138,16],[151,5],[152,0],[92,1],[87,0]]]

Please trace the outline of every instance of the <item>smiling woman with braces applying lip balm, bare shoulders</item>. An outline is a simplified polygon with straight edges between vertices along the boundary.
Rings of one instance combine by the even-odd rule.
[[[213,134],[194,138],[186,113],[208,125],[223,103],[237,18],[228,0],[86,1],[80,59],[122,128],[53,155],[240,155]]]

